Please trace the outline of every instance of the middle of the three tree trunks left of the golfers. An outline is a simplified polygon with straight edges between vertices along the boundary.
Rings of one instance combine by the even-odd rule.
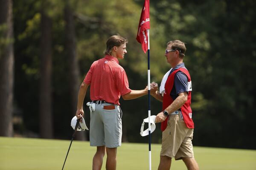
[[[52,98],[51,98],[51,74],[52,74],[52,37],[51,19],[41,11],[41,67],[40,67],[40,96],[39,96],[39,122],[41,138],[53,137],[52,126]]]

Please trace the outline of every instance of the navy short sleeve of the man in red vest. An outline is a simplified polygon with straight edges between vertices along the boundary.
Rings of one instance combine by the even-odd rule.
[[[188,77],[181,71],[178,71],[174,78],[176,94],[188,92]]]

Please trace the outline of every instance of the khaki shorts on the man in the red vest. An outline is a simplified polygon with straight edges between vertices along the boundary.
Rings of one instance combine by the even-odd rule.
[[[182,159],[182,157],[194,157],[193,130],[186,127],[180,114],[170,115],[168,125],[162,134],[160,156],[169,156],[175,160]]]

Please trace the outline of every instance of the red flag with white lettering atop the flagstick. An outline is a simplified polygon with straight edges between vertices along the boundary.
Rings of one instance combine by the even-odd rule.
[[[136,40],[141,43],[144,53],[148,50],[148,34],[147,29],[150,29],[149,20],[149,0],[145,0],[144,6],[140,15],[140,23],[138,26],[138,34]]]

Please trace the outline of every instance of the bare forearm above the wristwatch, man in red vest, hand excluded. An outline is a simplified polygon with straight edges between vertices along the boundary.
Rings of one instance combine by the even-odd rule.
[[[172,102],[171,105],[169,105],[165,111],[167,113],[172,113],[174,111],[177,111],[179,108],[181,108],[182,105],[184,105],[188,99],[188,94],[187,92],[179,93],[179,96]]]

